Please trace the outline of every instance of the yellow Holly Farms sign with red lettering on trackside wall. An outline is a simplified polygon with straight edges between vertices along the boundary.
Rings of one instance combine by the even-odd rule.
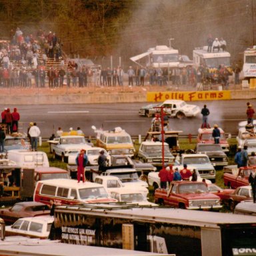
[[[159,91],[147,93],[147,101],[162,102],[167,99],[182,101],[220,101],[231,99],[230,91]]]

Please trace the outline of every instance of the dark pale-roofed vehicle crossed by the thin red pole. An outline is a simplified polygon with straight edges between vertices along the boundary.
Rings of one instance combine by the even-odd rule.
[[[164,155],[165,165],[174,162],[174,157],[167,143],[164,143]],[[155,167],[161,167],[163,165],[162,143],[160,141],[143,141],[139,147],[138,158],[143,163],[151,163]]]

